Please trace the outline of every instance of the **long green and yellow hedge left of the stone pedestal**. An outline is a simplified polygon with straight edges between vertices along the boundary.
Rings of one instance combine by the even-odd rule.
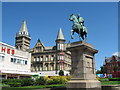
[[[24,79],[5,79],[2,80],[3,84],[10,85],[11,87],[20,87],[20,86],[33,86],[33,85],[52,85],[52,84],[65,84],[71,79],[71,76],[52,76],[48,77],[39,77],[35,80],[31,78]]]

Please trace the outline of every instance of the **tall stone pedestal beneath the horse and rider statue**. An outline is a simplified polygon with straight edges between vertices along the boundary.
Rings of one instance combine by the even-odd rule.
[[[101,90],[101,83],[96,79],[94,55],[98,50],[84,41],[71,43],[72,79],[67,83],[67,90]]]

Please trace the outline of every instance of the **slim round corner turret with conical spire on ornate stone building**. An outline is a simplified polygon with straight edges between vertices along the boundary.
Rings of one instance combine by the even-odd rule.
[[[64,56],[65,56],[65,39],[60,28],[56,38],[56,68],[57,70],[64,70]]]

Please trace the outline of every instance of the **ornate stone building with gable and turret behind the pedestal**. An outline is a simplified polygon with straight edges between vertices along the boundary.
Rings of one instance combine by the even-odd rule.
[[[59,70],[63,70],[65,75],[69,75],[71,70],[71,53],[66,50],[70,43],[65,43],[65,39],[60,28],[56,45],[45,47],[38,40],[32,51],[31,71],[41,75],[58,75]]]

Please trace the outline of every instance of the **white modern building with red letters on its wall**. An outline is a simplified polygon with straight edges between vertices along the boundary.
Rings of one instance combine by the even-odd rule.
[[[0,72],[3,79],[30,77],[31,53],[0,42]]]

